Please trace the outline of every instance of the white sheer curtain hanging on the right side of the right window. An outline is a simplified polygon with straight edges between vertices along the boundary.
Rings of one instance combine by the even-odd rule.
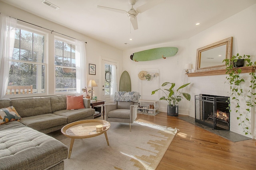
[[[76,93],[83,94],[87,83],[85,43],[76,39]]]

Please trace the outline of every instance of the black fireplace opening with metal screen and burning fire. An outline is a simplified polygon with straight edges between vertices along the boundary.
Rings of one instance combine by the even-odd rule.
[[[213,129],[230,130],[229,98],[200,94],[195,96],[195,121]]]

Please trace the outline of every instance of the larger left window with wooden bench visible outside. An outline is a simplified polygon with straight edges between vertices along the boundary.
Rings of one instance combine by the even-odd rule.
[[[7,94],[45,92],[46,37],[46,33],[18,25]]]

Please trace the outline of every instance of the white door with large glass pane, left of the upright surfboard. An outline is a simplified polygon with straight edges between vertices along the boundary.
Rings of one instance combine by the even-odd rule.
[[[113,101],[114,93],[117,91],[118,62],[112,59],[101,59],[101,99],[106,103]]]

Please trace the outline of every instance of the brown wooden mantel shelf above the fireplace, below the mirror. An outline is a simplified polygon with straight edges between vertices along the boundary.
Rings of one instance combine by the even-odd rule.
[[[248,66],[248,67],[240,67],[240,68],[242,69],[242,73],[248,73],[248,72],[254,72],[254,68],[256,68],[256,66]],[[187,76],[198,77],[198,76],[214,76],[214,75],[223,75],[223,74],[226,74],[226,69],[187,73]]]

